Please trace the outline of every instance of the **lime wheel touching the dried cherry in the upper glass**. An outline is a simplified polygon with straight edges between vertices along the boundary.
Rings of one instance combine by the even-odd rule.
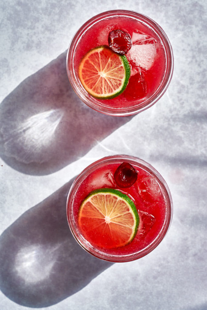
[[[121,94],[130,77],[130,66],[125,56],[105,46],[90,50],[79,65],[79,79],[93,97],[111,99]]]

